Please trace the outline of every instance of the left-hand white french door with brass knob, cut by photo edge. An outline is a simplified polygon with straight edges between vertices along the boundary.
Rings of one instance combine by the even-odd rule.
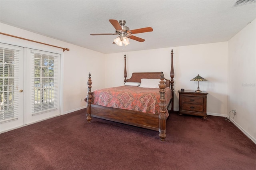
[[[24,49],[0,44],[0,130],[24,125]]]

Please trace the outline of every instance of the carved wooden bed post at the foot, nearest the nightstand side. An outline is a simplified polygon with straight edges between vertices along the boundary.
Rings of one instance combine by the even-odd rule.
[[[158,136],[160,137],[161,141],[164,141],[166,138],[166,99],[164,97],[165,93],[165,87],[166,84],[164,82],[164,74],[163,71],[161,72],[161,81],[160,84],[158,85],[160,88],[160,103],[158,104],[160,107],[160,114],[159,114],[159,134]]]

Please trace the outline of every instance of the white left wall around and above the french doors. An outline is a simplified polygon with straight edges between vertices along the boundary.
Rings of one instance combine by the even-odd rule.
[[[94,80],[94,86],[92,89],[103,87],[102,80],[104,79],[104,75],[102,73],[104,72],[104,63],[100,61],[104,58],[104,54],[2,23],[0,23],[0,31],[5,34],[70,49],[70,51],[63,52],[62,49],[56,47],[50,47],[48,45],[0,35],[0,42],[3,43],[10,43],[12,45],[19,45],[44,51],[50,50],[62,55],[62,62],[64,66],[62,68],[62,84],[64,91],[62,96],[63,114],[86,107],[86,103],[83,99],[87,95],[86,82],[88,80],[89,72],[92,73],[92,79]]]

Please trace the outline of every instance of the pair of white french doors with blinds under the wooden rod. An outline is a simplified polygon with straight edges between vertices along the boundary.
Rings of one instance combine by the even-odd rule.
[[[0,46],[0,131],[60,115],[60,54]]]

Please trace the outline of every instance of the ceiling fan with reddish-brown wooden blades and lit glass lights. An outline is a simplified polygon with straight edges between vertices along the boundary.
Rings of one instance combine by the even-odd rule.
[[[143,33],[143,32],[152,32],[153,28],[146,27],[146,28],[139,28],[136,30],[130,30],[129,27],[124,26],[126,24],[125,20],[109,20],[109,22],[114,26],[116,29],[116,33],[110,34],[91,34],[92,36],[100,36],[100,35],[118,35],[116,39],[114,39],[113,43],[116,43],[119,46],[128,45],[129,38],[132,40],[136,40],[138,42],[144,42],[145,40],[139,37],[134,36],[133,34]]]

